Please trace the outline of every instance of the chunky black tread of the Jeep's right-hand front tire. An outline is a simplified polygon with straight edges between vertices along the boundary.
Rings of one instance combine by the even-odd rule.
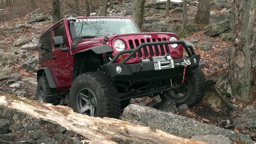
[[[185,100],[177,100],[175,101],[176,106],[180,106],[182,104],[187,104],[188,107],[193,107],[200,103],[202,101],[204,95],[205,95],[205,75],[203,74],[202,70],[200,68],[194,69],[191,71],[194,75],[194,79],[196,82],[196,92],[191,93],[190,96],[188,96]],[[162,99],[166,99],[166,96],[160,95]]]

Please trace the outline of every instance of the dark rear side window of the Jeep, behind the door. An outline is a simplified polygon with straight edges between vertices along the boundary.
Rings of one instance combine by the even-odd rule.
[[[43,57],[46,54],[50,53],[50,51],[51,51],[51,32],[48,32],[46,35],[44,35],[41,38],[40,44],[43,45],[43,49],[40,49],[40,57]]]

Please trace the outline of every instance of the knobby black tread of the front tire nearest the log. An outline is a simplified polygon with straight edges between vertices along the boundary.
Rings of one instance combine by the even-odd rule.
[[[104,104],[104,117],[119,118],[121,113],[121,103],[118,89],[112,83],[111,79],[102,72],[88,72],[79,75],[73,82],[70,88],[69,99],[74,99],[75,95],[72,95],[72,90],[79,81],[90,82],[99,92],[100,103]],[[101,93],[102,92],[102,93]],[[71,106],[71,103],[69,103]]]

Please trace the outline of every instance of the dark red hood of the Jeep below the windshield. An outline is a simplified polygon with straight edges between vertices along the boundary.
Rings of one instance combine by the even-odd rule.
[[[157,34],[176,35],[171,32],[141,32],[141,33],[132,33],[132,34],[116,34],[116,35],[107,35],[107,37],[108,37],[107,41],[112,41],[116,37],[123,37],[123,36],[128,36],[128,37],[131,36],[132,37],[132,36],[136,36],[136,35],[157,35]],[[177,38],[178,38],[178,36],[177,36]],[[104,36],[96,37],[96,38],[84,38],[80,43],[77,44],[77,48],[88,46],[91,44],[102,43],[103,39],[104,39]]]

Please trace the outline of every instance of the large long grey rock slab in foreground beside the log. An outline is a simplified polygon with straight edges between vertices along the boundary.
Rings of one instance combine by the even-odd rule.
[[[162,112],[151,107],[130,104],[124,109],[122,120],[142,126],[155,126],[157,129],[170,134],[191,138],[193,135],[223,135],[230,140],[240,138],[244,142],[251,142],[251,138],[224,128],[199,122],[172,113]]]

